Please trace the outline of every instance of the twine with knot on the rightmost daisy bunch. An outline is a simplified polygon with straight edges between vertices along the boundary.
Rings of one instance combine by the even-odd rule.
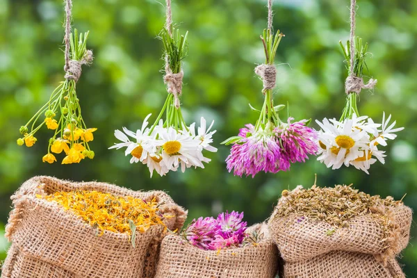
[[[354,54],[355,54],[355,44],[354,44],[354,31],[356,28],[356,0],[350,1],[350,68],[349,76],[345,81],[345,93],[349,95],[351,92],[357,93],[359,95],[362,89],[373,89],[377,85],[376,79],[369,79],[368,83],[363,83],[363,79],[354,74]]]

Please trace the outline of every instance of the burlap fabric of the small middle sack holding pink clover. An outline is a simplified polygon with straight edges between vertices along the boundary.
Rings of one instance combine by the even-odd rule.
[[[278,251],[266,225],[250,229],[264,233],[257,245],[220,250],[201,250],[181,236],[168,235],[161,245],[155,278],[273,278],[277,274]]]

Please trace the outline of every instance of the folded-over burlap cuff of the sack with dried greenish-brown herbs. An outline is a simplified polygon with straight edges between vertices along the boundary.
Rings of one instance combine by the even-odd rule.
[[[389,251],[398,254],[409,243],[412,211],[408,206],[400,205],[391,208],[390,215],[398,227],[389,239],[386,239],[386,231],[375,215],[352,218],[349,227],[338,228],[331,236],[327,234],[334,229],[331,224],[309,221],[297,215],[279,218],[274,213],[268,225],[285,261],[302,261],[336,250],[384,254],[387,240],[392,241]]]

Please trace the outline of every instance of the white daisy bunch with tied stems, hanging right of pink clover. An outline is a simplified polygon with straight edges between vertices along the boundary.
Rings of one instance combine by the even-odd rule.
[[[368,116],[359,116],[357,98],[362,88],[372,89],[376,80],[370,79],[363,83],[363,68],[366,67],[368,43],[363,45],[362,39],[354,42],[354,65],[351,67],[351,45],[347,41],[346,47],[341,43],[343,54],[347,61],[349,77],[346,81],[347,100],[340,120],[326,118],[319,122],[321,130],[318,136],[318,161],[325,163],[327,167],[338,169],[342,165],[353,165],[359,170],[369,174],[370,165],[379,161],[385,163],[386,154],[379,146],[386,146],[386,141],[394,140],[395,132],[403,127],[394,128],[396,121],[390,124],[391,115],[385,119],[382,116],[382,124],[376,124]],[[352,74],[353,73],[353,74]]]

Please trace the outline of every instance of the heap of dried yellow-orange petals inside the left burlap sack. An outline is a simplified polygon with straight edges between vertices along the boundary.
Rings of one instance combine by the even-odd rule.
[[[39,199],[57,202],[65,210],[79,215],[92,227],[97,227],[99,235],[104,230],[115,233],[132,234],[135,230],[144,233],[154,225],[163,225],[164,216],[159,204],[153,199],[147,202],[134,197],[120,197],[98,191],[56,192],[51,195],[36,195]]]

